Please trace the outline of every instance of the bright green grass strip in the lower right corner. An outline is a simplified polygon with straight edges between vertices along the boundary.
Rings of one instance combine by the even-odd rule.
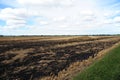
[[[120,80],[120,45],[73,80]]]

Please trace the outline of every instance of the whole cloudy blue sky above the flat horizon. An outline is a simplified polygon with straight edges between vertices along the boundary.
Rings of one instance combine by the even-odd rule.
[[[0,35],[120,34],[120,0],[0,0]]]

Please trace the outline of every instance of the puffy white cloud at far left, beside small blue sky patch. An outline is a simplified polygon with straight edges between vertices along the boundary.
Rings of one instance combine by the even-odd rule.
[[[26,24],[26,10],[5,8],[0,12],[0,19],[6,21],[7,28],[17,28]]]

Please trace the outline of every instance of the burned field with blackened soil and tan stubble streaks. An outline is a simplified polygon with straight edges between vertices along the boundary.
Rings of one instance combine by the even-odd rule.
[[[70,64],[95,57],[120,41],[117,36],[0,40],[0,80],[38,80]]]

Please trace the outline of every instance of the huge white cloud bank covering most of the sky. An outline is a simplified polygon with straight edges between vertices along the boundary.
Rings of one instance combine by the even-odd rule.
[[[16,0],[16,4],[19,7],[2,9],[0,19],[6,21],[4,29],[27,27],[26,34],[82,34],[120,21],[120,10],[100,8],[97,0]]]

